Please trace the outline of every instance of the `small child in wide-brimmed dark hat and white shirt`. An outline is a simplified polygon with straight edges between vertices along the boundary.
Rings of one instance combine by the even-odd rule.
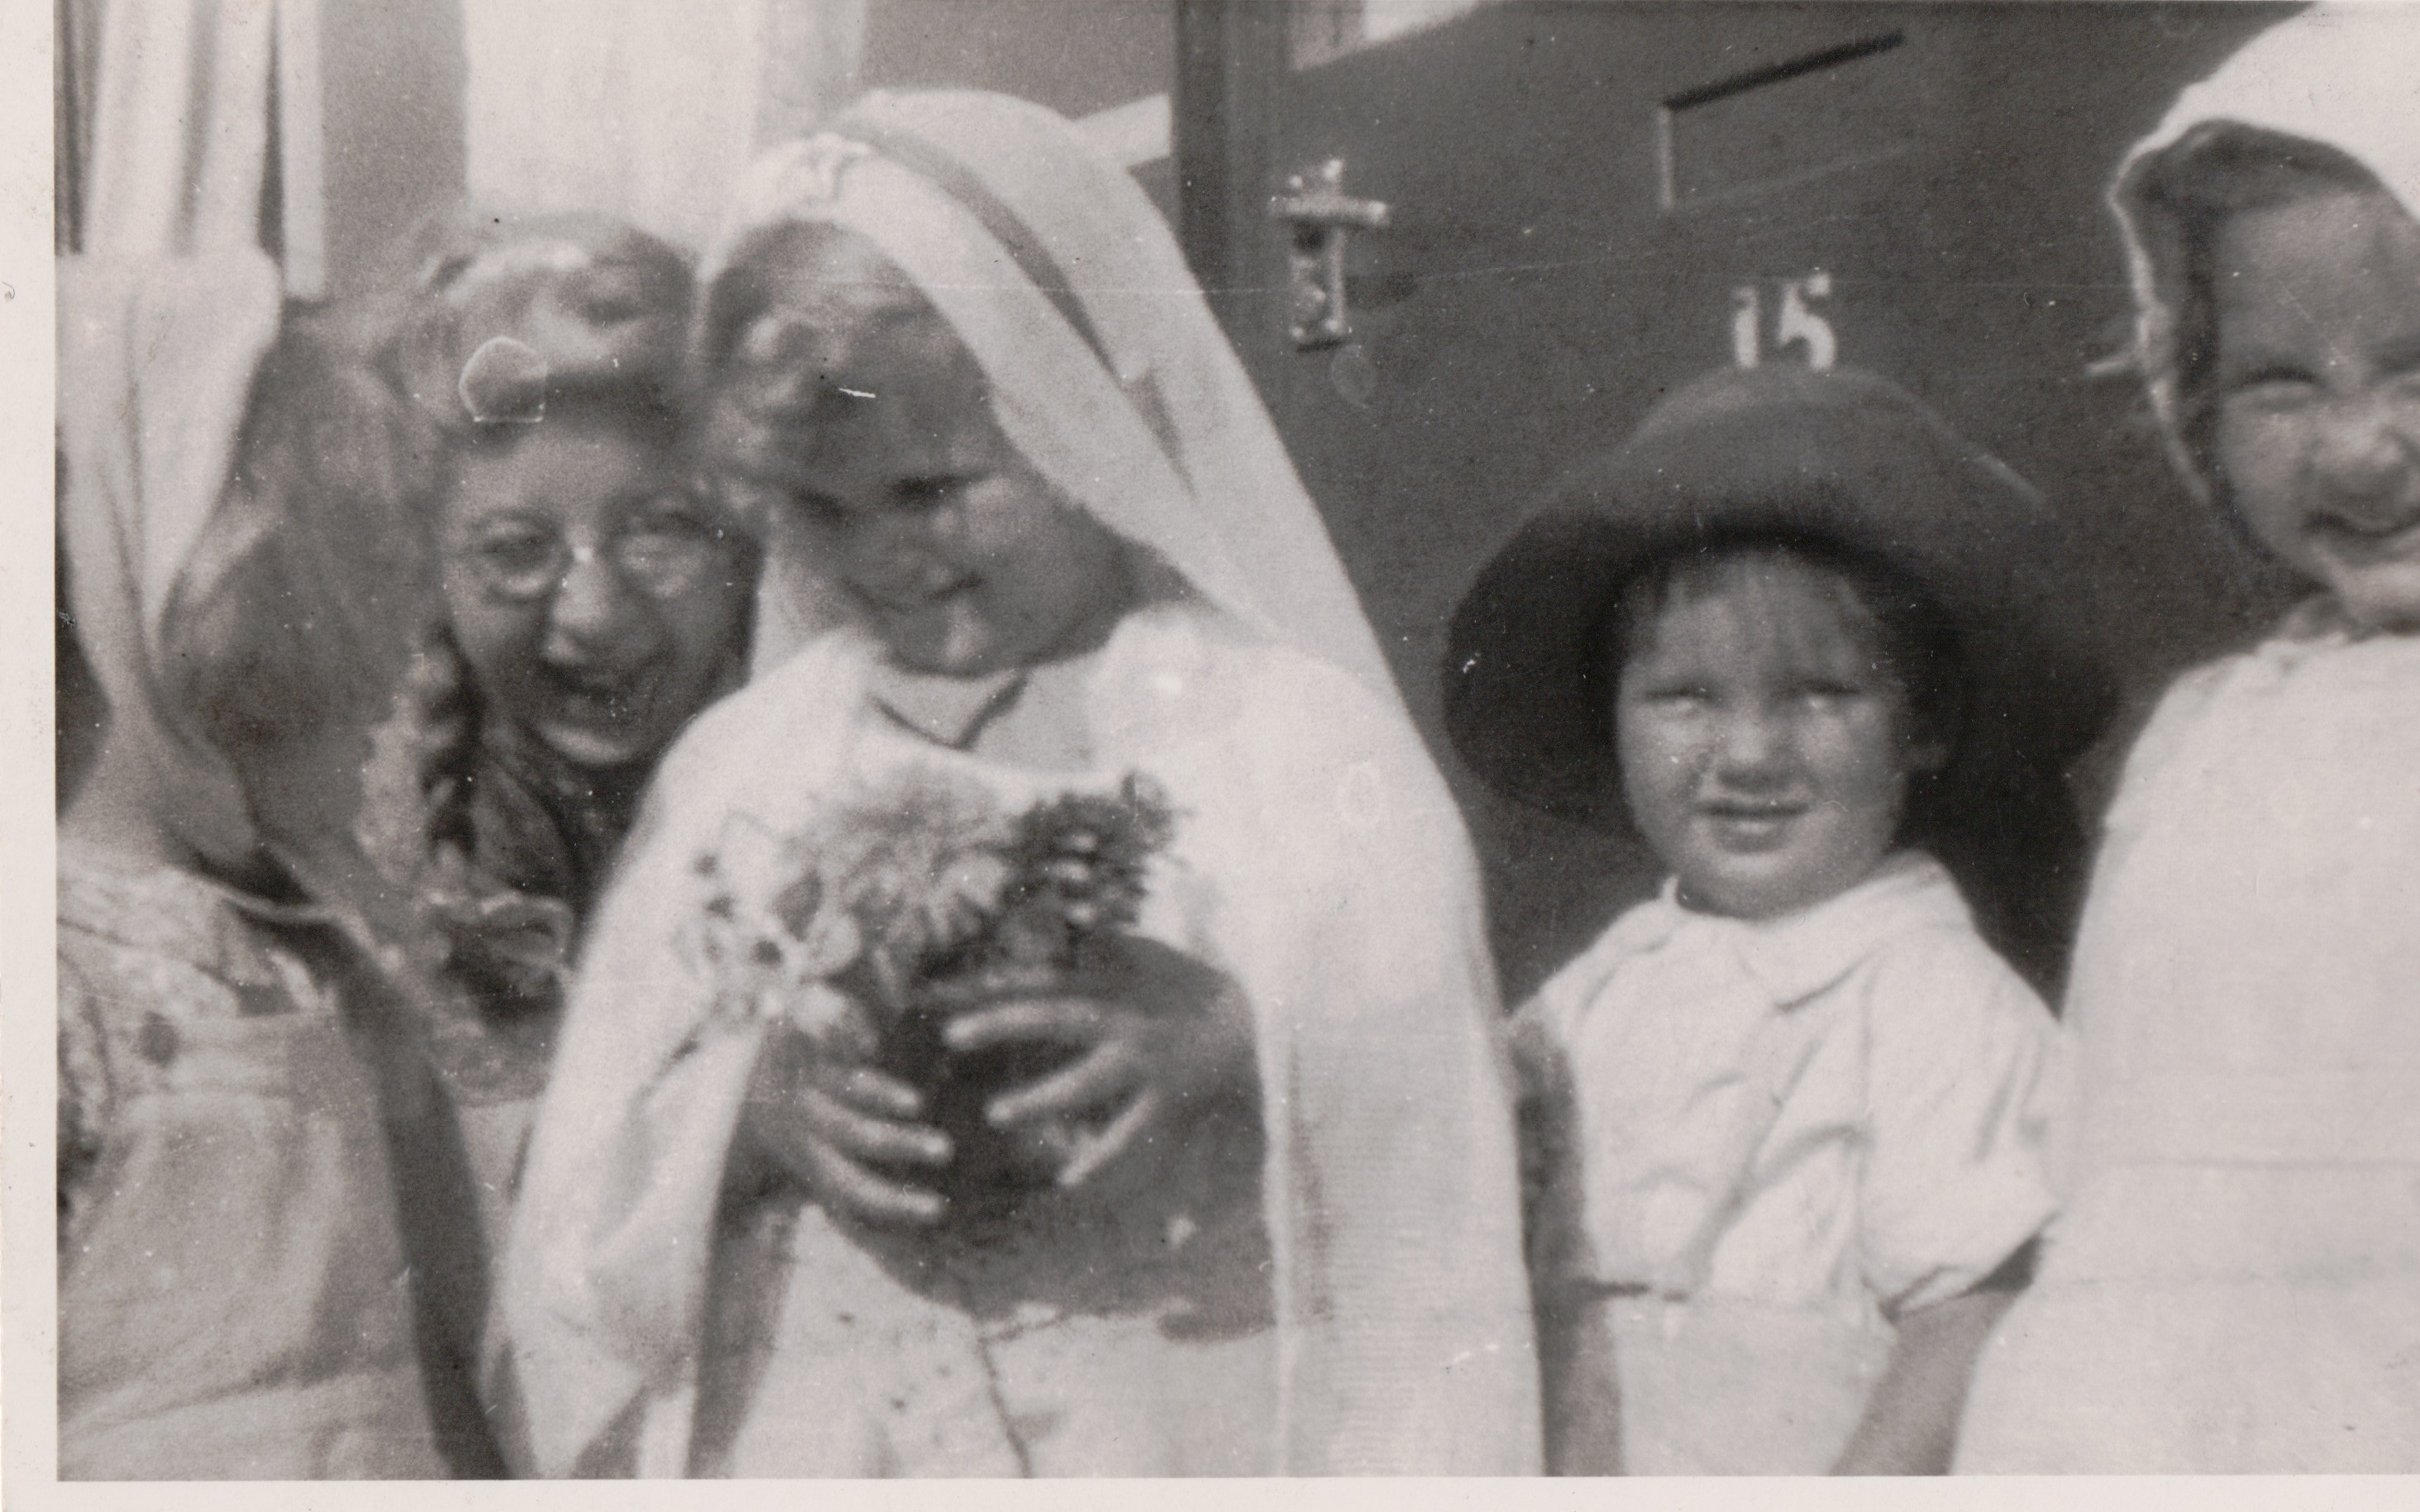
[[[1515,1018],[1554,1468],[1948,1466],[2052,1214],[2055,1026],[1977,912],[2057,931],[2108,709],[2059,547],[1897,387],[1733,370],[1457,610],[1471,767],[1672,873]]]

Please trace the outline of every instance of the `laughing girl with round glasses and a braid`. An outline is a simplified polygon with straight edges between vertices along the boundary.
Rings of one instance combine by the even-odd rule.
[[[445,438],[445,595],[365,827],[443,951],[436,1043],[501,1241],[561,977],[656,760],[738,682],[755,547],[682,462],[675,249],[603,215],[433,240],[380,358]]]

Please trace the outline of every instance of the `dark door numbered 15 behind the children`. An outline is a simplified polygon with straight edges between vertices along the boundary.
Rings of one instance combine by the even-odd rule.
[[[1372,41],[1353,5],[1183,7],[1176,148],[1188,249],[1471,820],[1508,994],[1655,868],[1454,762],[1442,627],[1663,389],[1771,360],[1905,382],[2084,530],[2139,697],[2265,610],[2098,363],[2127,312],[2101,191],[2277,7],[1428,10],[1467,15]],[[1304,348],[1268,201],[1331,157],[1389,225],[1348,232],[1350,336]]]

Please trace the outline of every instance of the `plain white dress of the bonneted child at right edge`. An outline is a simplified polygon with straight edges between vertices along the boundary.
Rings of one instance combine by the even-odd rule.
[[[2420,636],[2306,614],[2134,745],[2064,1214],[1963,1471],[2420,1471]]]

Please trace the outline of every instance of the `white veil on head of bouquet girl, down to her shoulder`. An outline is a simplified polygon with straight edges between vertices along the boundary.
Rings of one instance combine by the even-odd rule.
[[[1067,498],[1237,619],[1394,699],[1319,510],[1176,240],[1065,119],[1004,94],[869,94],[748,169],[699,285],[782,223],[847,227],[898,264],[975,356],[999,428]],[[779,627],[782,607],[767,610]]]

